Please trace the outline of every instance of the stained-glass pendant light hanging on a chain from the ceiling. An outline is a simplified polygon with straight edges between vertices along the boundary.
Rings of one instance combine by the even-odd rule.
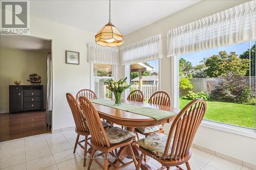
[[[109,7],[109,22],[95,35],[95,41],[102,46],[120,46],[123,44],[123,36],[111,23],[110,12],[111,4]]]

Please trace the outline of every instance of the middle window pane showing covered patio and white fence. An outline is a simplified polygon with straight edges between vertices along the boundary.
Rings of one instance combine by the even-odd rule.
[[[159,59],[129,65],[131,89],[141,90],[144,101],[159,89]]]

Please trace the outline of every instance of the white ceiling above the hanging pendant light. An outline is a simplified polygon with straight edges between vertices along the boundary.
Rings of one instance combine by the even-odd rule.
[[[193,4],[194,0],[111,1],[112,23],[127,35]],[[31,1],[31,16],[97,33],[109,17],[109,1]]]

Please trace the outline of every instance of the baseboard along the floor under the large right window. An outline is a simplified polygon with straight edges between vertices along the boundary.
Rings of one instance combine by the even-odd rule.
[[[229,155],[226,155],[226,154],[223,154],[223,153],[211,150],[209,148],[203,147],[203,146],[195,144],[195,143],[193,144],[193,148],[196,148],[196,149],[198,149],[200,151],[203,151],[203,152],[206,152],[208,154],[217,156],[219,158],[225,159],[225,160],[227,160],[229,162],[233,162],[233,163],[239,164],[239,165],[244,166],[246,168],[249,168],[249,169],[252,169],[252,170],[256,170],[256,164],[253,164],[253,163],[250,163],[250,162],[246,162],[244,160],[241,160],[241,159],[238,159],[238,158],[235,158],[235,157],[232,157],[232,156],[229,156]]]

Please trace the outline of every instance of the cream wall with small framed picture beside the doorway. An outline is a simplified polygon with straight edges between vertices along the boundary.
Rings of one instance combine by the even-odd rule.
[[[72,127],[74,120],[66,93],[73,95],[90,88],[90,63],[87,43],[94,42],[94,33],[31,17],[30,35],[52,40],[53,64],[53,130]],[[80,52],[80,65],[66,64],[65,51]]]

